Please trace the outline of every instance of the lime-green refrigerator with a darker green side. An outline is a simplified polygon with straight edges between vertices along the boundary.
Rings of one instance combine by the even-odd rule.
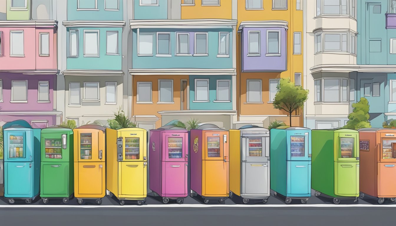
[[[312,130],[312,189],[315,196],[358,201],[359,132],[353,129]]]

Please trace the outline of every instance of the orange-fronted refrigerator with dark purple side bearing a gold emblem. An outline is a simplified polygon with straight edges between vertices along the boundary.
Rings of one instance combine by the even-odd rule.
[[[190,130],[190,196],[201,196],[204,203],[228,198],[228,131],[204,124]]]

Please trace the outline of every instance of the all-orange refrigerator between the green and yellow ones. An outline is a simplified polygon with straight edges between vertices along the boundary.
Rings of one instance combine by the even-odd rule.
[[[83,125],[74,133],[74,196],[78,204],[83,199],[96,199],[100,205],[106,191],[105,127]]]

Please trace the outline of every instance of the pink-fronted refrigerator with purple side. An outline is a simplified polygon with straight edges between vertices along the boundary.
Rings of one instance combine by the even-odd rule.
[[[188,133],[186,129],[165,125],[150,130],[148,169],[150,190],[163,203],[175,199],[183,203],[187,193]]]

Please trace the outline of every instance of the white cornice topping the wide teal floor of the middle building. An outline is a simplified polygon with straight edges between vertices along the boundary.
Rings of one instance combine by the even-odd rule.
[[[178,20],[129,20],[135,28],[232,28],[237,20],[232,19],[178,19]]]

